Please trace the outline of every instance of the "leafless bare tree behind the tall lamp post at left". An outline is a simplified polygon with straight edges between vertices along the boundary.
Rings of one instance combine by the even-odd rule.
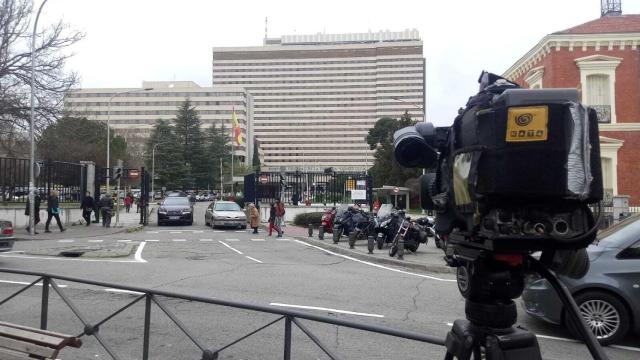
[[[0,0],[0,153],[11,154],[27,138],[34,17],[30,0]],[[62,21],[36,35],[36,134],[62,115],[64,94],[78,82],[64,65],[72,55],[68,48],[83,37]]]

